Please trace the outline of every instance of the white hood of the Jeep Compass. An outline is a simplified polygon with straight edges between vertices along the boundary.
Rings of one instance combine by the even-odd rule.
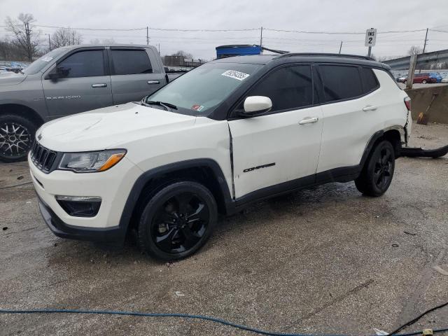
[[[194,125],[196,118],[139,104],[110,106],[44,124],[36,137],[53,151],[97,151]]]

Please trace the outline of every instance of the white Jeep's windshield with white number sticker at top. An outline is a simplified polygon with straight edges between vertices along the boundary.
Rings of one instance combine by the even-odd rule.
[[[204,64],[148,96],[146,102],[174,104],[176,112],[207,116],[260,67],[260,64]]]

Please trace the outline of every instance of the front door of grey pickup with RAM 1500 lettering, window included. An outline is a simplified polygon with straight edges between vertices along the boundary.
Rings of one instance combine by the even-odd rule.
[[[43,74],[42,87],[50,119],[113,105],[105,57],[104,47],[74,50]],[[49,73],[57,70],[61,76],[50,79]]]

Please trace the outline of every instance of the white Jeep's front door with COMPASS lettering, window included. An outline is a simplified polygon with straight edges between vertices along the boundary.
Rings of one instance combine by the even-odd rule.
[[[269,97],[272,110],[237,118],[239,104],[229,120],[237,202],[314,183],[323,126],[317,94],[311,66],[293,65],[274,69],[244,96]]]

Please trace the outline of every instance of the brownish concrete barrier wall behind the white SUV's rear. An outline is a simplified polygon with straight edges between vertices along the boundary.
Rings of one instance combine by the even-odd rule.
[[[431,87],[428,84],[428,87],[405,91],[411,98],[412,120],[417,120],[419,113],[423,112],[427,114],[429,123],[448,124],[448,85]]]

